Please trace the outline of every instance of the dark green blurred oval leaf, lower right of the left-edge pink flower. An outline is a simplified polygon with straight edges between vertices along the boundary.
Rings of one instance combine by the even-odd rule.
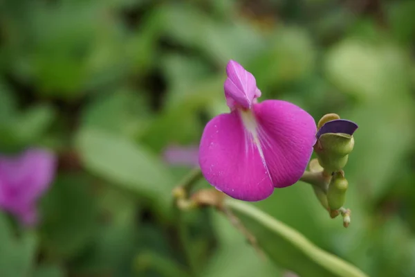
[[[83,175],[61,175],[42,200],[40,229],[46,248],[50,254],[75,256],[91,242],[98,229],[91,182]]]

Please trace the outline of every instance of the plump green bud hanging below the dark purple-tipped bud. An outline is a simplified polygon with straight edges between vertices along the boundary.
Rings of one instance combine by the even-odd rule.
[[[327,202],[331,210],[338,210],[343,206],[348,186],[349,182],[344,178],[344,172],[342,170],[335,172],[327,190]]]

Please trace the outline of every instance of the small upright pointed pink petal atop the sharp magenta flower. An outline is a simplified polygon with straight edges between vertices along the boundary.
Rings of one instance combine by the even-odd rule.
[[[223,88],[228,106],[233,109],[236,105],[250,108],[255,99],[257,91],[257,81],[254,75],[246,71],[241,64],[230,60],[226,66],[228,78],[225,80]],[[259,91],[259,95],[261,91]]]

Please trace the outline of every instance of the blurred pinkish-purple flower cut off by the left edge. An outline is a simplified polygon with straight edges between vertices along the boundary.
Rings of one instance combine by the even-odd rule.
[[[18,156],[0,155],[0,207],[24,225],[37,222],[36,202],[55,175],[55,156],[40,149]]]

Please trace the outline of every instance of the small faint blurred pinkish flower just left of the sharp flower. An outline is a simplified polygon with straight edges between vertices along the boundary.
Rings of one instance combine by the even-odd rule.
[[[171,145],[164,151],[164,160],[174,166],[199,166],[199,148],[197,146]]]

